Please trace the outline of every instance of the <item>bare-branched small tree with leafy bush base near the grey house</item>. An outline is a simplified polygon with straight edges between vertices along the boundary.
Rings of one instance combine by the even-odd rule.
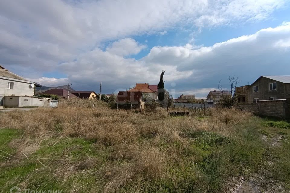
[[[237,104],[237,98],[239,95],[236,93],[236,87],[239,82],[240,81],[238,80],[237,77],[235,76],[229,77],[230,89],[224,90],[224,88],[220,85],[221,81],[219,81],[218,89],[221,91],[222,96],[221,102],[223,107],[230,108],[235,104]],[[226,91],[229,91],[230,95],[225,94]]]

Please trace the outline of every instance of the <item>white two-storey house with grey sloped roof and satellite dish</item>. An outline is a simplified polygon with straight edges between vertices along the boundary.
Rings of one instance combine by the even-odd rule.
[[[4,96],[33,96],[34,85],[0,66],[0,106],[3,106]]]

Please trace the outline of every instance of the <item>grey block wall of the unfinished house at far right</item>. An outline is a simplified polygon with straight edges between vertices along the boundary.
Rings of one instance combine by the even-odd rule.
[[[277,90],[269,90],[269,84],[274,82],[277,84]],[[254,86],[259,86],[259,92],[254,93]],[[270,97],[285,99],[290,96],[286,94],[290,94],[290,84],[284,84],[266,77],[261,77],[251,85],[248,94],[248,102],[254,103],[254,98],[258,98],[259,100],[270,100]]]

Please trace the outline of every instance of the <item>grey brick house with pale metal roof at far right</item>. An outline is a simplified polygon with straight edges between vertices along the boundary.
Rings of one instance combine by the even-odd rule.
[[[290,76],[261,76],[248,90],[248,103],[290,98]]]

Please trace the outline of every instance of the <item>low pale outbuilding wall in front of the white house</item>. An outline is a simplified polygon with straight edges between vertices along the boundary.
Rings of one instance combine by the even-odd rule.
[[[50,100],[27,96],[5,96],[5,107],[41,106],[48,107]]]

